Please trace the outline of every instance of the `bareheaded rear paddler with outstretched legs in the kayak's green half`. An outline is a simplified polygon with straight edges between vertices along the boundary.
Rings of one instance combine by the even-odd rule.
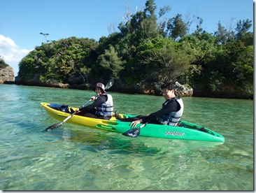
[[[131,127],[136,127],[139,123],[167,124],[176,126],[183,115],[184,104],[180,97],[176,96],[173,83],[165,83],[161,86],[162,95],[166,101],[162,108],[149,115],[138,115],[136,117],[122,118],[118,111],[115,111],[115,118],[122,122],[131,122]]]

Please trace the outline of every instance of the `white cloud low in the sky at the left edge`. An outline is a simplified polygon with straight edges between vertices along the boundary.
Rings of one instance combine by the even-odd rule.
[[[31,50],[20,48],[11,38],[0,34],[0,56],[3,58],[6,64],[13,67],[15,75],[18,72],[17,64],[30,51]]]

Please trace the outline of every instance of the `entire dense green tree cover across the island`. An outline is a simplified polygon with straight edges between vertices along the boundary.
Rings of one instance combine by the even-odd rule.
[[[127,13],[118,32],[99,41],[69,37],[42,43],[21,60],[16,79],[85,84],[116,78],[147,89],[177,80],[192,87],[194,96],[253,98],[252,21],[239,20],[234,29],[219,22],[209,34],[200,17],[164,19],[171,8],[160,8],[158,15],[156,8],[154,0],[146,1],[143,10]],[[190,32],[193,23],[197,27]]]

